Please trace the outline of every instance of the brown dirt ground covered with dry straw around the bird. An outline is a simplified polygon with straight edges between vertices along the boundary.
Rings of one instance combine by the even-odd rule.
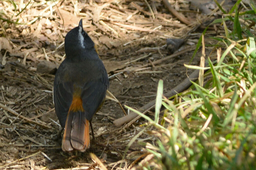
[[[28,1],[24,3],[18,7],[25,8]],[[0,169],[99,168],[91,152],[109,169],[120,163],[122,168],[131,168],[146,156],[143,142],[154,143],[155,137],[143,133],[123,158],[127,144],[143,128],[140,125],[144,120],[129,127],[115,126],[113,121],[124,113],[118,102],[108,98],[93,117],[96,140],[91,139],[91,147],[84,153],[63,152],[52,100],[55,72],[36,70],[43,60],[58,68],[65,57],[65,35],[82,18],[84,30],[95,42],[109,76],[123,71],[110,78],[109,91],[122,107],[144,106],[155,99],[159,79],[164,80],[167,92],[192,72],[184,63],[198,65],[200,53],[190,62],[205,28],[197,21],[216,18],[191,9],[187,1],[170,1],[180,15],[194,23],[187,26],[161,1],[150,3],[154,16],[144,1],[35,1],[20,14],[19,22],[26,24],[1,21]],[[14,7],[7,5],[1,2],[0,7],[9,16]],[[215,33],[213,30],[212,35]],[[172,48],[166,44],[167,38],[185,42]],[[176,57],[160,60],[189,48]],[[211,47],[206,51],[209,54]]]

